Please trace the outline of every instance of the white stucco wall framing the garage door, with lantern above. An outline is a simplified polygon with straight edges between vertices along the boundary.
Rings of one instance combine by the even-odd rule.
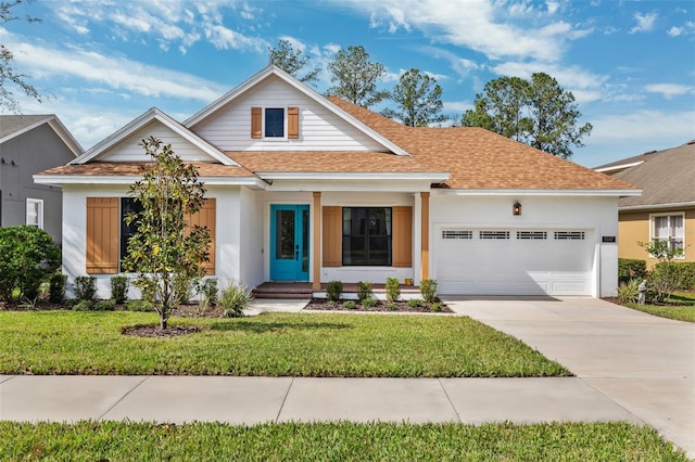
[[[513,216],[519,201],[521,216]],[[617,291],[617,244],[602,236],[618,234],[618,197],[547,195],[452,195],[432,192],[430,200],[430,269],[435,271],[435,245],[443,228],[509,228],[586,230],[594,240],[592,295],[611,296]],[[431,273],[437,278],[435,272]]]

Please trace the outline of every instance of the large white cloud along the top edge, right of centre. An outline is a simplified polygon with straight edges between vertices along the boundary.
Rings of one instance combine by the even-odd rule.
[[[356,0],[349,4],[368,12],[374,27],[387,25],[390,31],[418,28],[435,40],[466,47],[491,59],[557,61],[573,31],[565,22],[544,18],[547,13],[531,2],[469,0],[462,5],[439,0]],[[515,24],[515,15],[531,14],[540,23],[534,29]]]

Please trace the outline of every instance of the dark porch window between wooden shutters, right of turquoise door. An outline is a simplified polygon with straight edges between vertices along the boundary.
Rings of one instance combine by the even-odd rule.
[[[391,208],[343,207],[343,266],[391,266]]]

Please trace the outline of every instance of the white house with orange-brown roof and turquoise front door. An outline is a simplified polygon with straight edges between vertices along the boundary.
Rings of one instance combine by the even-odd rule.
[[[639,194],[484,129],[405,127],[269,66],[182,124],[152,108],[35,176],[63,187],[64,271],[96,275],[101,296],[150,136],[199,167],[222,285],[395,277],[440,294],[612,295],[618,198]]]

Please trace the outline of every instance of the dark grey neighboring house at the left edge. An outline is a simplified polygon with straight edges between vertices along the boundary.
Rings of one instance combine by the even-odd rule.
[[[0,115],[0,227],[35,226],[60,243],[61,188],[36,184],[33,176],[81,154],[54,115]]]

